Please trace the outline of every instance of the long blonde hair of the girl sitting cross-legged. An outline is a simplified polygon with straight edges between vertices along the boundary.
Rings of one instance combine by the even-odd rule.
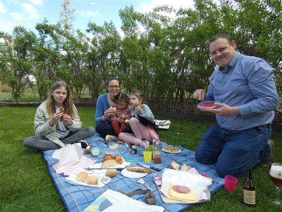
[[[67,97],[63,102],[62,107],[64,108],[64,114],[69,115],[71,118],[74,118],[74,111],[73,111],[73,102],[72,97],[70,93],[70,89],[64,81],[56,81],[52,86],[49,93],[49,96],[47,98],[47,111],[49,116],[51,117],[54,113],[56,113],[56,107],[55,107],[55,100],[54,97],[51,95],[51,92],[54,92],[54,90],[65,87],[67,90]]]

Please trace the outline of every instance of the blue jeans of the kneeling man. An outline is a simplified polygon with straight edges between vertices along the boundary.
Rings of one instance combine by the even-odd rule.
[[[247,166],[254,167],[268,156],[270,137],[270,128],[234,131],[216,124],[204,134],[195,159],[203,164],[216,163],[216,172],[222,178],[244,175]]]

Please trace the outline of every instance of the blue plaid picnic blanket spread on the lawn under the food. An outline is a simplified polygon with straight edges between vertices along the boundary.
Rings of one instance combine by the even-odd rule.
[[[109,144],[113,143],[105,143],[105,139],[99,136],[99,134],[95,134],[94,136],[86,139],[88,143],[92,143],[93,146],[100,147],[102,150],[109,148]],[[164,146],[169,146],[167,143],[163,142],[160,148]],[[212,184],[209,187],[209,191],[211,194],[214,194],[224,185],[224,179],[220,178],[215,171],[214,165],[204,165],[195,161],[194,152],[179,147],[181,152],[178,154],[169,154],[165,152],[161,152],[161,164],[154,164],[153,162],[144,163],[147,165],[151,165],[161,169],[161,172],[152,172],[151,174],[147,174],[143,179],[144,181],[153,189],[156,197],[156,205],[161,206],[165,209],[164,212],[181,212],[184,209],[190,208],[195,204],[166,204],[162,201],[159,193],[157,192],[157,187],[153,181],[153,175],[156,173],[162,173],[164,168],[169,168],[171,161],[175,161],[178,164],[186,164],[190,167],[194,167],[200,174],[206,173],[209,175],[214,181],[217,181],[219,184]],[[86,209],[94,200],[96,200],[100,195],[102,195],[107,189],[111,189],[117,192],[123,192],[125,194],[130,193],[136,189],[145,189],[145,187],[141,184],[137,184],[137,179],[125,178],[121,175],[121,172],[112,178],[112,181],[108,183],[105,187],[102,188],[91,188],[84,186],[77,186],[69,184],[65,181],[66,176],[56,174],[55,170],[52,168],[53,165],[58,163],[57,159],[52,158],[52,154],[54,150],[49,150],[43,152],[43,158],[47,163],[49,174],[65,204],[65,207],[68,212],[81,212]],[[119,152],[119,155],[122,157],[126,157],[129,155],[128,152]],[[98,157],[93,157],[91,154],[86,155],[87,157],[96,159],[96,163],[101,163],[103,161],[103,154],[100,154]],[[136,164],[132,163],[131,166],[135,166]],[[139,166],[139,165],[137,165]],[[131,198],[145,202],[144,194],[134,195]],[[211,197],[212,201],[212,197]]]

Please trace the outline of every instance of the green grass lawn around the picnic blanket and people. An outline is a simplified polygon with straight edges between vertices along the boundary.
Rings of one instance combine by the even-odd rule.
[[[36,108],[0,107],[0,212],[65,212],[63,202],[48,174],[39,152],[28,150],[22,142],[33,136]],[[94,126],[94,108],[78,107],[83,127]],[[160,131],[160,139],[171,145],[195,151],[210,123],[192,123],[169,117],[171,127]],[[273,133],[276,161],[282,162],[282,135]],[[256,186],[256,208],[243,205],[244,176],[238,178],[234,193],[224,189],[211,196],[209,203],[196,205],[186,212],[281,212],[272,204],[275,187],[269,179],[269,169],[257,166],[252,175]]]

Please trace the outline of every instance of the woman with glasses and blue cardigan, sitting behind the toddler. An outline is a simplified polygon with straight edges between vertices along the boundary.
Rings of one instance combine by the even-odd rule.
[[[110,117],[113,115],[113,110],[110,107],[117,106],[117,96],[120,93],[121,82],[117,77],[111,77],[107,80],[107,93],[101,94],[96,103],[95,123],[96,131],[106,141],[114,141],[117,139],[116,133],[111,126]]]

